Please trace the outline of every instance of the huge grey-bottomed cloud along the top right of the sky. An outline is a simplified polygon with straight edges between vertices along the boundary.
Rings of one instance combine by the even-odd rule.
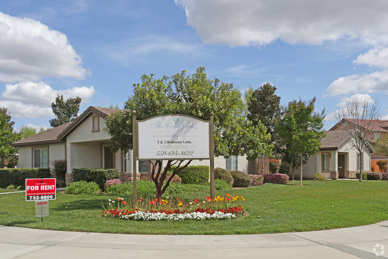
[[[187,24],[205,43],[265,45],[280,38],[289,43],[321,44],[359,38],[388,42],[385,0],[175,0]]]

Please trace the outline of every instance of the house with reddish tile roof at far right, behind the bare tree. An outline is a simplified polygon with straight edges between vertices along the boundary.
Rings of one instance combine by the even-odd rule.
[[[366,128],[371,131],[370,139],[378,140],[380,137],[388,133],[388,120],[353,120],[353,119],[342,119],[331,130],[340,130],[343,123],[350,123],[349,125],[357,125],[357,127]],[[373,141],[371,142],[373,146]],[[371,154],[373,160],[388,160],[388,155],[381,155],[377,153]],[[387,161],[388,162],[388,161]],[[377,170],[377,169],[375,169]]]

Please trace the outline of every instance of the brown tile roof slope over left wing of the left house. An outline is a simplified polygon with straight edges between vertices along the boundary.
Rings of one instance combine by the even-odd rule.
[[[36,134],[31,137],[26,137],[25,139],[21,139],[12,143],[11,146],[31,146],[35,144],[49,144],[49,143],[61,143],[64,141],[59,141],[57,139],[58,135],[62,133],[72,122],[68,122],[53,129],[46,130],[42,133]]]

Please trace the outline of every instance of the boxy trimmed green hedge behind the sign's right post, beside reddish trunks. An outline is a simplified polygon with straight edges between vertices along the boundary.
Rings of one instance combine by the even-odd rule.
[[[168,172],[172,174],[176,167],[171,167]],[[182,184],[204,184],[209,181],[209,167],[207,165],[191,165],[177,174],[182,180]]]

